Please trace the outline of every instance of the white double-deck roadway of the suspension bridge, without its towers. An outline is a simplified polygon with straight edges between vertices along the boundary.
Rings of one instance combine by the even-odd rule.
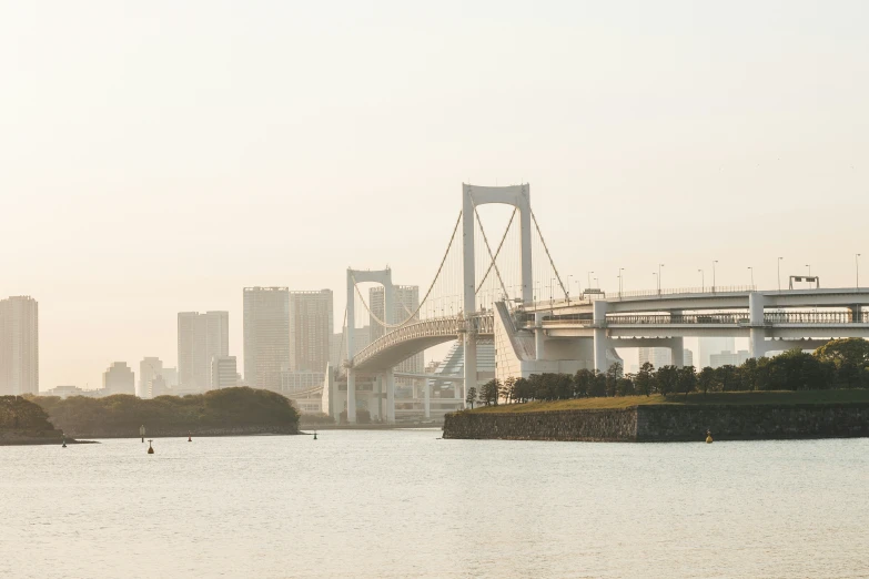
[[[867,306],[869,288],[780,292],[740,288],[607,294],[597,299],[538,302],[521,307],[515,316],[517,328],[547,339],[597,338],[595,363],[598,365],[605,364],[602,360],[607,347],[654,346],[655,339],[749,337],[751,355],[759,357],[771,349],[806,345],[798,341],[807,338],[869,337],[869,313],[862,311]],[[360,351],[353,358],[353,367],[360,372],[381,372],[432,346],[459,338],[468,329],[481,337],[493,337],[494,325],[492,312],[474,314],[469,324],[462,316],[413,322]],[[670,342],[666,344],[673,346]],[[811,345],[818,343],[812,341]]]

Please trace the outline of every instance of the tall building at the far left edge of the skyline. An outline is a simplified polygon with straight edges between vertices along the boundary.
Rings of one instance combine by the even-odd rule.
[[[39,305],[0,299],[0,396],[39,394]]]

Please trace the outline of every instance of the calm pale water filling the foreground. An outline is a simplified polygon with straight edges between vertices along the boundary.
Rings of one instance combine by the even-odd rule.
[[[0,447],[0,577],[869,577],[869,439]]]

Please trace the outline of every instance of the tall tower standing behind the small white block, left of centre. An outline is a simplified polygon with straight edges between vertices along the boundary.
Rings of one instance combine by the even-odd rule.
[[[178,382],[184,392],[210,390],[212,358],[229,354],[229,312],[178,315]]]

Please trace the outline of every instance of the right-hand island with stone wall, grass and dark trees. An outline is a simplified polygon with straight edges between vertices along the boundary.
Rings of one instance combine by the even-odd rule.
[[[625,374],[614,364],[493,379],[467,402],[472,409],[446,417],[445,438],[691,440],[713,428],[729,439],[869,436],[869,342],[700,372],[647,363]]]

